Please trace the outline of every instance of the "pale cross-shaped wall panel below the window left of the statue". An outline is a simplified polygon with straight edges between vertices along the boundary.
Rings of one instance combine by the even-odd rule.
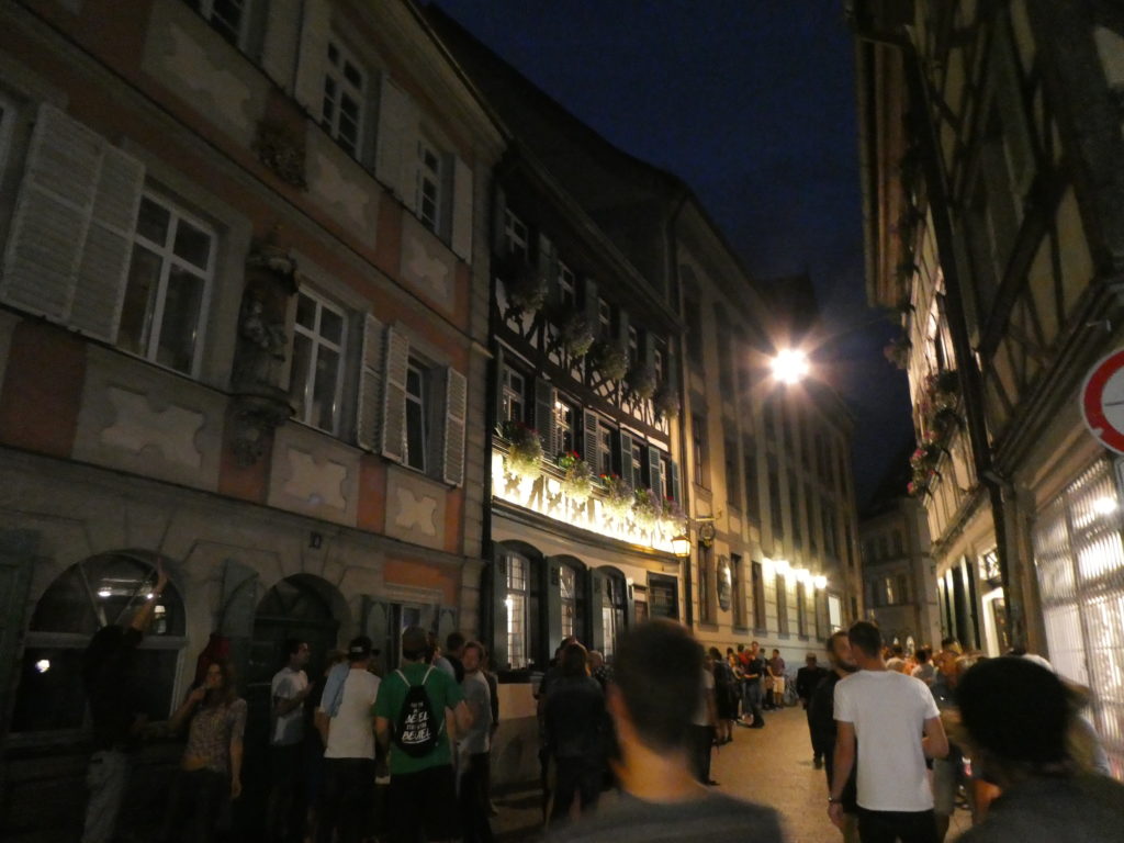
[[[107,397],[115,419],[101,432],[102,443],[135,454],[151,446],[169,462],[192,469],[202,465],[202,453],[196,446],[196,434],[206,422],[202,413],[175,405],[154,410],[146,395],[119,387],[109,387]]]

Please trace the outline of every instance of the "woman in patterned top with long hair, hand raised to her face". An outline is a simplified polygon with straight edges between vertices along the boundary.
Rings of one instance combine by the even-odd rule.
[[[172,732],[188,723],[188,745],[172,788],[164,826],[166,841],[206,843],[215,836],[230,799],[242,792],[242,736],[246,728],[246,700],[237,695],[234,669],[227,661],[207,668],[172,715]]]

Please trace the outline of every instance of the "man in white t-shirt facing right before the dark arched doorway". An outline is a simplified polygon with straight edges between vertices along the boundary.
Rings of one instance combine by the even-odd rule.
[[[308,696],[308,643],[285,642],[288,662],[270,683],[270,803],[265,836],[271,843],[299,841],[305,834],[301,758],[305,740],[303,701]]]

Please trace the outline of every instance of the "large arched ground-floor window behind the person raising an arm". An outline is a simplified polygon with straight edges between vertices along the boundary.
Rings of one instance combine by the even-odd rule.
[[[93,556],[66,569],[35,606],[20,664],[13,733],[81,729],[87,725],[82,659],[103,626],[127,626],[156,582],[156,558],[144,553]],[[169,583],[137,652],[137,710],[167,718],[180,651],[183,601]]]

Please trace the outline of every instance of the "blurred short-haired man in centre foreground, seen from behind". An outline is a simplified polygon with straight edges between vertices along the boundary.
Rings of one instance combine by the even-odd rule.
[[[737,840],[780,843],[776,812],[708,791],[691,770],[703,647],[680,624],[655,619],[617,644],[609,713],[617,729],[619,803],[554,840],[598,843]]]

